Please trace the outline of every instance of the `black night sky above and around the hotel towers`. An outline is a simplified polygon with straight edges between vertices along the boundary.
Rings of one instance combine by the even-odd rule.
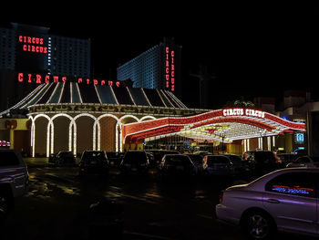
[[[68,8],[55,2],[46,11],[26,5],[30,10],[1,18],[1,24],[48,26],[51,34],[90,38],[96,78],[116,78],[118,64],[174,37],[182,46],[183,101],[189,107],[199,104],[199,84],[190,73],[200,66],[215,76],[208,85],[211,109],[232,99],[279,98],[285,89],[319,97],[317,2],[221,2]]]

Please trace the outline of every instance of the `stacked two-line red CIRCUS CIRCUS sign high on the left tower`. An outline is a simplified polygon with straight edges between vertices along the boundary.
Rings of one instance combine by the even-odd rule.
[[[42,37],[28,37],[20,35],[18,37],[18,41],[22,44],[22,49],[25,52],[47,54],[47,47],[44,46],[44,40]]]

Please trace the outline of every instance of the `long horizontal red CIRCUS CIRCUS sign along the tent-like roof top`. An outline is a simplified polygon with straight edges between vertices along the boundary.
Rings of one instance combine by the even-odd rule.
[[[94,85],[101,85],[101,86],[115,86],[120,87],[121,84],[119,81],[111,81],[111,80],[101,80],[101,79],[91,79],[91,78],[72,78],[66,76],[56,76],[56,75],[41,75],[41,74],[31,74],[31,73],[22,73],[19,72],[17,74],[17,81],[20,83],[58,83],[58,82],[77,82],[79,84],[94,84]]]

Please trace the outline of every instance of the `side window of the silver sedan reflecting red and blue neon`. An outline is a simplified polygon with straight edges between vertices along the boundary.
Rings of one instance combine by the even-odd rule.
[[[314,174],[310,172],[289,172],[273,178],[265,190],[273,193],[314,197]]]

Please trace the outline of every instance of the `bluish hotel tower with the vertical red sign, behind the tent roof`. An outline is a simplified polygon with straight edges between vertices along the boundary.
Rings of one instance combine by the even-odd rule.
[[[180,97],[181,47],[164,41],[117,68],[118,80],[131,79],[134,88],[165,89]]]

